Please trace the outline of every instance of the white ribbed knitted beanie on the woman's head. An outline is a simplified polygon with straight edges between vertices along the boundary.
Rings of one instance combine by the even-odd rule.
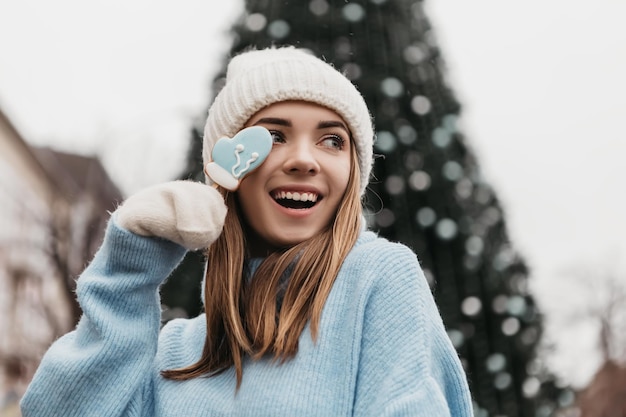
[[[211,108],[204,128],[204,163],[223,136],[232,137],[256,112],[286,100],[328,107],[348,124],[361,170],[361,194],[372,169],[374,131],[365,100],[343,74],[328,63],[294,47],[244,52],[230,61],[226,84]]]

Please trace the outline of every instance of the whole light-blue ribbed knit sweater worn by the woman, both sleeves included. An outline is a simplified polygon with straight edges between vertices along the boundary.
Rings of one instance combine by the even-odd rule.
[[[158,288],[185,250],[109,222],[78,280],[84,314],[48,350],[21,407],[24,417],[425,416],[465,417],[472,404],[415,255],[364,231],[326,301],[318,340],[302,332],[295,358],[244,362],[188,381],[164,369],[200,358],[204,317],[160,329]]]

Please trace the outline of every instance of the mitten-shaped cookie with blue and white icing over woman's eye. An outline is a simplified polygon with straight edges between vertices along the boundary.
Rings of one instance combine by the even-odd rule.
[[[241,130],[232,139],[223,137],[215,143],[207,175],[217,184],[236,190],[239,180],[258,168],[272,150],[272,135],[261,126]]]

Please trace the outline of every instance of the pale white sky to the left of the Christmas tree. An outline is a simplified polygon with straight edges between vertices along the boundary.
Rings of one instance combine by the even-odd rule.
[[[216,4],[0,1],[0,108],[33,144],[100,155],[126,193],[167,181],[243,7]]]

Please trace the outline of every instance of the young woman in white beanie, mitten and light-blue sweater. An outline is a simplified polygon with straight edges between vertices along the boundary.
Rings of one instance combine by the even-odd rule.
[[[205,161],[250,126],[272,150],[236,191],[166,183],[113,213],[25,417],[472,415],[416,256],[365,230],[373,130],[356,88],[301,50],[243,53]],[[158,287],[201,247],[205,313],[159,332]]]

